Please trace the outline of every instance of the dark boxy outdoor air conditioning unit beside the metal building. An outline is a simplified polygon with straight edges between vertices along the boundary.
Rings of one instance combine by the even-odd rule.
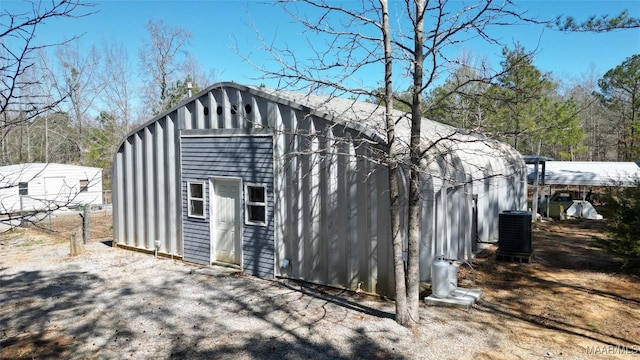
[[[498,217],[498,253],[528,255],[531,247],[531,212],[507,210]]]

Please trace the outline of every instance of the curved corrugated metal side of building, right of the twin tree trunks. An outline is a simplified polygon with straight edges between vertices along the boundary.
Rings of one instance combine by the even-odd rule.
[[[490,139],[479,142],[466,136],[443,143],[443,148],[439,156],[425,159],[422,176],[421,281],[430,281],[435,256],[471,260],[474,194],[480,241],[497,238],[500,211],[525,205],[524,168],[517,152]]]

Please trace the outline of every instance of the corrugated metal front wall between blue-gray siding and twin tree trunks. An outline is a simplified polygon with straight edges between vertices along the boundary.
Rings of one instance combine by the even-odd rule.
[[[357,131],[285,105],[270,116],[280,134],[276,264],[289,261],[278,275],[391,294],[386,168],[367,160]]]

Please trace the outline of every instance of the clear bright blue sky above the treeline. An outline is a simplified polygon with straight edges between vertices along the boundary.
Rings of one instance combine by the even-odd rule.
[[[392,0],[392,7],[394,4]],[[60,41],[84,33],[82,47],[103,40],[122,42],[129,57],[137,62],[138,47],[147,37],[145,24],[149,19],[162,19],[169,26],[179,26],[192,32],[188,50],[202,67],[216,74],[214,81],[235,81],[259,84],[260,73],[242,61],[232,50],[234,44],[261,62],[255,29],[266,41],[287,44],[300,54],[308,52],[300,28],[278,6],[258,1],[96,1],[98,13],[83,19],[52,21],[38,33],[40,41]],[[461,2],[460,2],[461,3]],[[578,19],[589,15],[617,14],[627,9],[632,16],[640,16],[640,1],[518,1],[528,15],[553,18],[572,15]],[[401,3],[399,3],[401,5]],[[3,10],[13,11],[22,6],[15,0],[1,0]],[[520,42],[525,49],[537,48],[534,64],[556,78],[569,81],[595,71],[597,75],[620,64],[632,54],[640,53],[640,29],[614,31],[605,34],[566,34],[542,26],[501,28],[495,34],[507,44]],[[470,51],[476,57],[486,57],[498,67],[500,47],[479,41],[450,49]],[[135,66],[137,69],[137,65]],[[378,74],[367,74],[370,86],[380,83]],[[268,86],[272,86],[266,82]]]

